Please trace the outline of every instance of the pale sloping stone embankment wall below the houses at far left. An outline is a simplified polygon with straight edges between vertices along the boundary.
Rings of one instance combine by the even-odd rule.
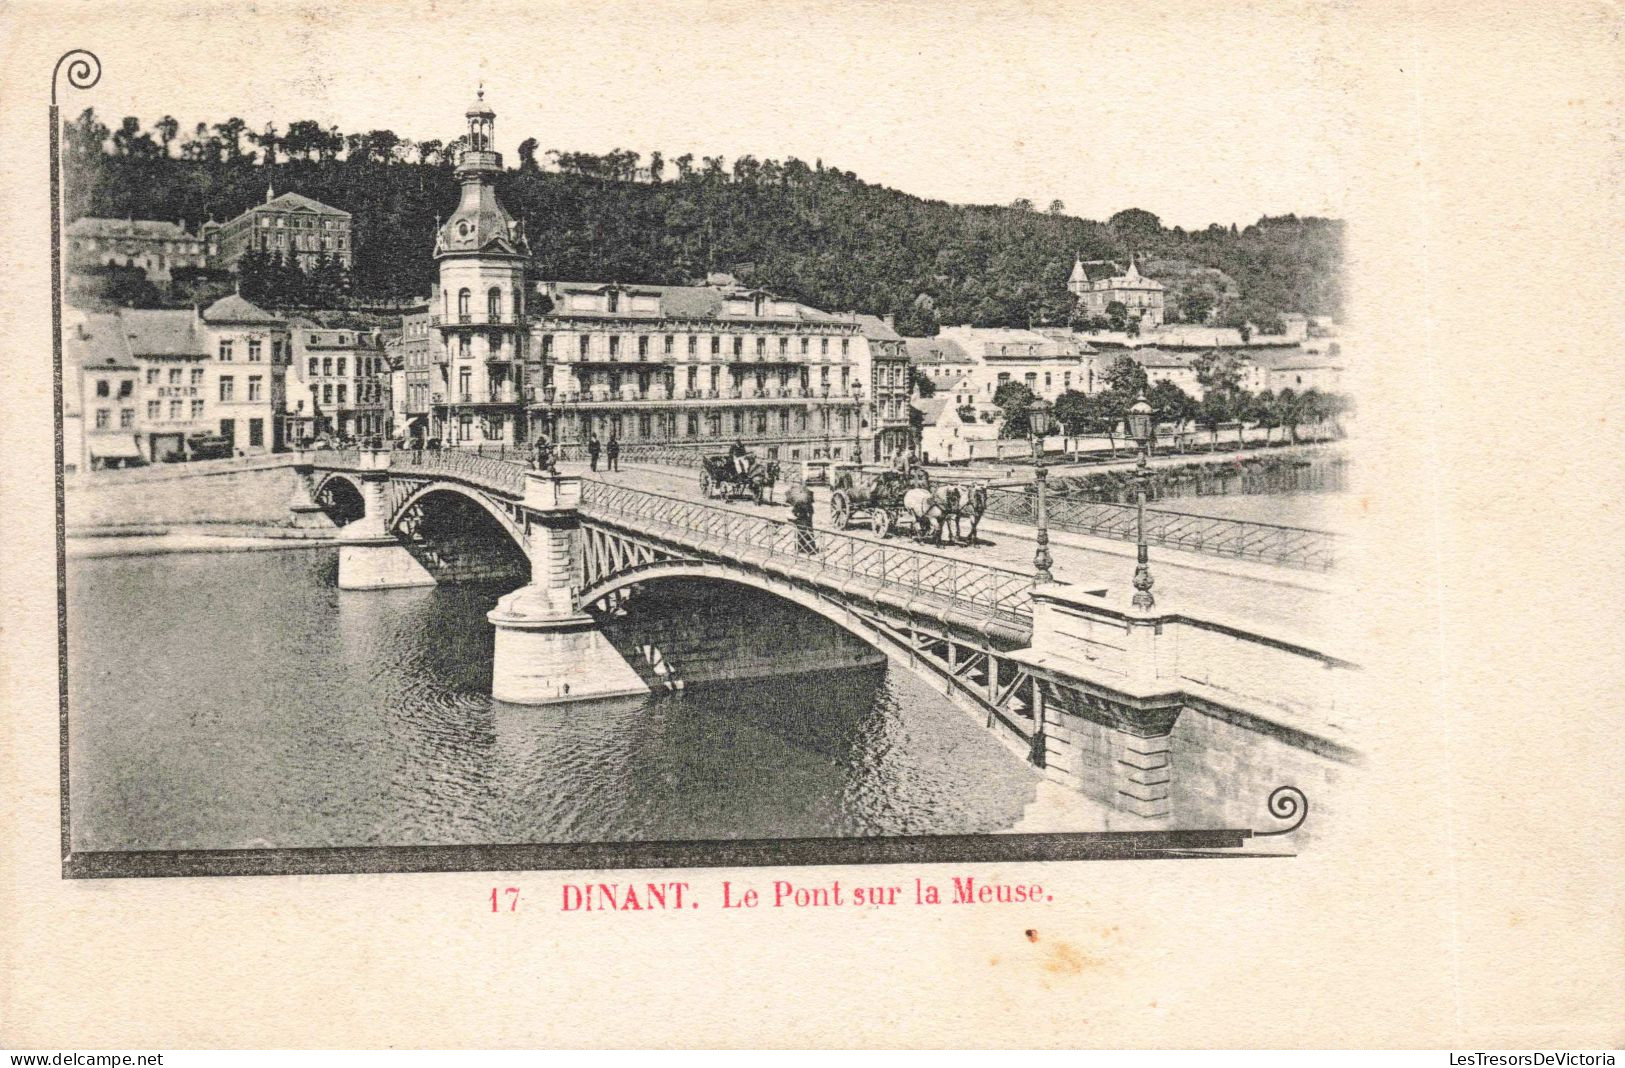
[[[68,530],[239,523],[288,527],[299,486],[291,457],[96,471],[67,481]]]

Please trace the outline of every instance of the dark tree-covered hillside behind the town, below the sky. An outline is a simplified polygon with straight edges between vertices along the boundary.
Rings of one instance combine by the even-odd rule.
[[[182,137],[164,117],[115,130],[91,111],[65,124],[67,216],[229,219],[276,192],[301,192],[354,216],[351,293],[369,301],[427,294],[437,218],[457,205],[457,143],[413,143],[388,130],[344,135],[315,122],[254,133],[231,119]],[[1055,202],[951,205],[871,185],[800,159],[639,153],[544,153],[520,146],[500,182],[544,278],[684,283],[730,271],[816,307],[895,314],[905,333],[939,323],[1064,323],[1072,255],[1185,260],[1240,284],[1216,322],[1272,312],[1341,312],[1342,223],[1292,215],[1245,229],[1167,229],[1149,211],[1105,223]],[[1133,190],[1123,190],[1131,197]],[[1170,302],[1172,320],[1181,307]]]

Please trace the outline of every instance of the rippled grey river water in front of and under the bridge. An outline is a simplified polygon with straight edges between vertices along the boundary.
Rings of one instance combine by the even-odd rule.
[[[505,588],[335,572],[332,548],[70,561],[76,850],[988,832],[1038,788],[887,666],[497,704]]]

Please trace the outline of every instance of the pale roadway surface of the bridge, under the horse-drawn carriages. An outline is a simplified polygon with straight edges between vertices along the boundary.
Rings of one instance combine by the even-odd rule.
[[[689,468],[624,465],[621,471],[596,475],[585,463],[562,463],[561,473],[596,478],[604,483],[661,493],[686,501],[700,501],[746,515],[788,520],[790,509],[780,504],[756,506],[748,501],[725,502],[700,494],[699,473]],[[783,501],[785,486],[777,488]],[[829,491],[814,489],[814,525],[830,530]],[[874,538],[864,522],[853,523],[848,535]],[[1017,523],[983,520],[980,545],[928,546],[931,551],[959,559],[1032,572],[1034,530]],[[876,538],[878,540],[878,538]],[[912,545],[907,533],[894,533],[892,543]],[[1134,546],[1108,538],[1069,532],[1050,533],[1051,571],[1061,582],[1087,588],[1107,588],[1108,600],[1128,606],[1133,595]],[[1253,624],[1285,640],[1342,653],[1346,640],[1337,624],[1347,616],[1347,605],[1334,574],[1303,572],[1253,561],[1238,561],[1152,546],[1150,571],[1157,580],[1157,608],[1220,623]]]

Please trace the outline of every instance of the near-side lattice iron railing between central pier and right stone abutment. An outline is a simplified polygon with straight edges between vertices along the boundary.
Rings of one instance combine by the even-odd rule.
[[[782,558],[811,564],[821,577],[871,580],[897,592],[921,593],[1027,624],[1032,619],[1032,575],[988,567],[923,549],[786,523],[681,497],[582,483],[582,514],[630,530],[663,528],[671,540],[739,559]]]

